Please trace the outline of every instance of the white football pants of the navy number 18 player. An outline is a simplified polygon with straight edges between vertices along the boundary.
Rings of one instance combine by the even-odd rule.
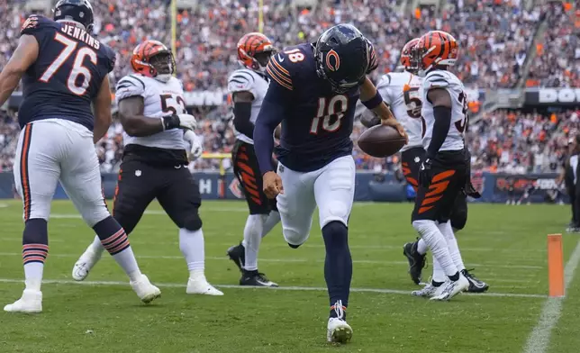
[[[355,162],[351,156],[334,159],[307,173],[278,164],[277,173],[284,187],[284,194],[277,196],[277,208],[288,243],[301,245],[308,239],[316,205],[321,229],[333,221],[348,225],[355,195]]]

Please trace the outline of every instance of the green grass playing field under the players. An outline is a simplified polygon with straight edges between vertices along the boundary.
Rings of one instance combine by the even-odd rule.
[[[22,293],[23,224],[20,203],[0,204],[2,307]],[[145,305],[112,258],[104,258],[83,285],[72,282],[71,268],[93,233],[71,204],[55,202],[44,312],[0,312],[0,352],[522,352],[547,300],[546,235],[563,231],[568,208],[470,205],[459,246],[467,267],[476,267],[476,276],[491,288],[449,303],[409,295],[417,286],[406,273],[402,246],[415,237],[411,210],[411,204],[355,204],[349,227],[354,336],[349,345],[335,347],[325,341],[324,248],[316,227],[300,249],[285,244],[279,226],[263,241],[260,270],[280,289],[239,288],[239,272],[225,251],[241,239],[246,205],[204,203],[206,276],[225,295],[187,295],[177,229],[159,205],[152,205],[131,234],[141,270],[163,292],[159,301]],[[577,241],[575,235],[564,236],[565,261]],[[576,278],[547,351],[577,352],[579,326]]]

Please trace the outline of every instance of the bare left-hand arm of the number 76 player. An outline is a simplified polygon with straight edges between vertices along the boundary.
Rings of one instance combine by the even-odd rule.
[[[38,41],[33,35],[23,34],[20,37],[12,58],[0,73],[0,106],[10,98],[24,72],[36,61],[38,50]]]

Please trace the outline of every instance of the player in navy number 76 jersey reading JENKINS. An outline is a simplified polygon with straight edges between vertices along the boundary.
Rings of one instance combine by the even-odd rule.
[[[41,312],[41,281],[49,254],[47,222],[57,183],[131,279],[141,301],[161,292],[140,273],[129,240],[108,212],[95,152],[111,124],[107,75],[114,53],[91,36],[93,8],[87,0],[60,0],[54,21],[30,16],[18,47],[0,73],[0,105],[23,79],[18,119],[23,129],[14,158],[14,181],[23,199],[23,263],[26,287],[6,312]],[[95,113],[91,109],[95,108]]]

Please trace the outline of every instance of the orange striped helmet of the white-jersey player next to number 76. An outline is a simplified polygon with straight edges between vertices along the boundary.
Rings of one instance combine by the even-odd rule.
[[[143,41],[131,56],[131,68],[138,74],[167,82],[176,70],[173,53],[160,41]]]

